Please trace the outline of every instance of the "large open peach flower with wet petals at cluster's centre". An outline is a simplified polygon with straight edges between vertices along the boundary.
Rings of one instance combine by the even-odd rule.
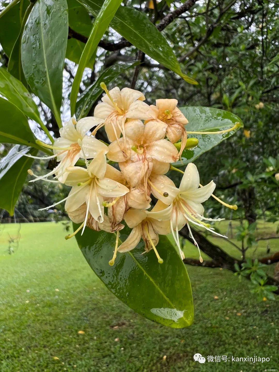
[[[178,158],[175,146],[164,139],[167,125],[163,122],[131,120],[125,124],[126,137],[108,146],[109,160],[119,162],[124,178],[130,186],[137,187],[147,179],[155,163],[155,172],[166,173],[169,163]]]

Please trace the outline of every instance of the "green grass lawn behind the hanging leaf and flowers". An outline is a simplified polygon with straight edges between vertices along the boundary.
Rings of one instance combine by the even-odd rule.
[[[226,226],[220,223],[223,232]],[[260,224],[259,234],[273,231],[273,224]],[[9,255],[9,234],[16,232],[14,224],[0,227],[1,372],[279,369],[279,298],[257,302],[248,280],[239,282],[227,270],[187,266],[194,324],[166,328],[115,298],[85,262],[75,240],[64,240],[62,224],[22,224],[19,247]],[[239,257],[223,239],[212,240]],[[254,257],[266,255],[266,244],[259,244]],[[277,240],[270,240],[270,247],[271,253],[278,251]],[[192,244],[185,248],[187,257],[198,258]],[[80,330],[84,334],[78,334]],[[199,364],[193,360],[195,353],[269,357],[270,362]]]

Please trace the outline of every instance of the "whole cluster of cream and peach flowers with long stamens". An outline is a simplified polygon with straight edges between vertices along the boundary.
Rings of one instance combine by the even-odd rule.
[[[95,107],[93,117],[78,122],[71,118],[60,129],[60,137],[53,145],[40,142],[54,153],[43,159],[57,158],[59,163],[43,176],[29,170],[29,174],[35,176],[30,182],[45,180],[71,186],[69,195],[60,202],[66,201],[69,218],[81,225],[67,235],[67,239],[81,229],[83,233],[85,226],[96,231],[116,232],[111,265],[117,251],[132,250],[140,239],[145,243],[145,251],[153,249],[158,262],[162,263],[156,245],[159,235],[170,232],[184,258],[178,231],[187,225],[194,240],[189,223],[214,232],[204,220],[215,221],[204,217],[202,206],[212,195],[214,182],[201,186],[197,167],[192,163],[185,172],[171,166],[181,158],[185,148],[188,120],[177,108],[176,99],[158,99],[156,105],[149,106],[137,90],[115,87],[108,91],[104,83],[101,87],[106,94]],[[110,144],[95,138],[103,126]],[[77,165],[80,163],[83,166]],[[111,165],[114,163],[118,163],[120,170]],[[165,175],[170,168],[184,173],[179,188]],[[151,196],[158,200],[149,210]],[[132,231],[119,245],[123,220]],[[194,243],[198,247],[195,240]]]

